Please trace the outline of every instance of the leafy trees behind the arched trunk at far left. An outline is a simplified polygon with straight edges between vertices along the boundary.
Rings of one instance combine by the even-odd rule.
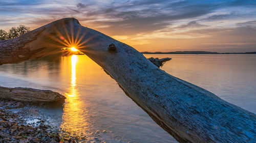
[[[0,40],[13,39],[29,32],[29,27],[25,25],[19,25],[18,27],[12,27],[9,32],[0,30]]]

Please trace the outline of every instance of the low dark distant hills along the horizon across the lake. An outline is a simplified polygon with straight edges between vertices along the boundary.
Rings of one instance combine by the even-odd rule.
[[[171,52],[147,52],[143,51],[141,52],[143,54],[256,54],[255,52],[225,52],[225,53],[219,53],[219,52],[210,52],[210,51],[171,51]]]

